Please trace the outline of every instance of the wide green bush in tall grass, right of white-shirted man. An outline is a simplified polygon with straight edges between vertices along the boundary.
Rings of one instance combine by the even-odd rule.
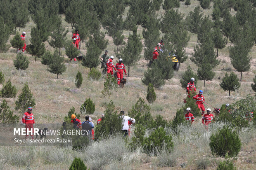
[[[173,147],[171,135],[166,135],[164,128],[156,128],[149,137],[144,140],[144,151],[148,155],[156,153],[155,151],[166,149],[170,151]]]

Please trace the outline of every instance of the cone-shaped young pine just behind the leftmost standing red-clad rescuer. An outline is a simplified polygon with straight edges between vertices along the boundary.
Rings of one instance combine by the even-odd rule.
[[[34,107],[36,105],[35,98],[28,87],[28,82],[24,84],[18,100],[15,101],[15,110],[19,110],[20,113],[24,113],[28,107]]]

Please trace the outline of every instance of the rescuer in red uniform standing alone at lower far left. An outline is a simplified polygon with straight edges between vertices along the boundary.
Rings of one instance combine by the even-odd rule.
[[[30,133],[30,135],[31,135],[31,138],[34,139],[34,135],[33,135],[34,129],[33,129],[33,126],[35,126],[35,119],[34,119],[34,115],[32,113],[32,107],[28,107],[28,112],[25,112],[23,114],[22,123],[23,123],[23,125],[26,128],[25,139],[28,139],[28,137],[29,137],[29,133],[27,133],[27,130],[29,130],[30,132],[32,130],[32,133]]]

